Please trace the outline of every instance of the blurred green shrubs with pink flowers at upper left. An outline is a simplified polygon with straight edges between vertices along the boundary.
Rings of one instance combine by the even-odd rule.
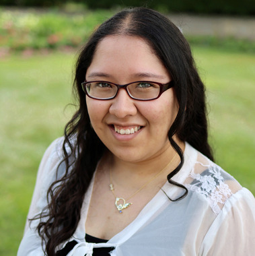
[[[0,48],[20,51],[26,48],[77,47],[111,14],[109,11],[98,11],[96,15],[89,11],[79,15],[64,15],[57,11],[0,11]]]

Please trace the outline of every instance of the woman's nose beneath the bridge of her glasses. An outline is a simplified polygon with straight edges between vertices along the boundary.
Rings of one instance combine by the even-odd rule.
[[[128,115],[135,115],[137,107],[133,100],[124,89],[118,90],[118,94],[112,99],[112,104],[109,108],[109,113],[118,118],[124,118]]]

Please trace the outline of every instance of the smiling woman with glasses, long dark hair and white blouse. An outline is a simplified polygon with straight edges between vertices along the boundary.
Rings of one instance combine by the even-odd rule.
[[[252,255],[254,197],[212,162],[205,88],[172,22],[120,11],[81,51],[74,86],[18,255]]]

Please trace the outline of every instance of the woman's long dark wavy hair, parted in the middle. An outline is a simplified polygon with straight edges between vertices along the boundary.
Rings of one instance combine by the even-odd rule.
[[[178,199],[182,199],[188,191],[183,185],[171,180],[184,162],[183,152],[173,136],[187,141],[213,160],[208,143],[205,86],[194,65],[188,42],[180,30],[157,11],[138,7],[116,13],[92,34],[77,59],[74,90],[79,100],[79,109],[65,127],[63,162],[66,171],[63,177],[52,183],[48,189],[48,207],[37,217],[40,218],[38,232],[46,243],[46,254],[49,256],[55,255],[57,245],[75,232],[84,194],[92,181],[96,164],[106,149],[90,125],[81,83],[85,80],[98,42],[114,34],[143,38],[174,81],[179,110],[168,137],[181,161],[168,175],[168,181],[184,189],[184,194]],[[75,142],[71,142],[73,138]]]

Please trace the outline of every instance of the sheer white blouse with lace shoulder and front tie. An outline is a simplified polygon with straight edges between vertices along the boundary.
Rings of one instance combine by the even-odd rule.
[[[63,138],[46,150],[40,167],[28,218],[42,212],[46,192],[56,179],[61,162]],[[65,171],[65,166],[60,167]],[[185,185],[188,195],[176,202],[183,189],[166,182],[162,190],[147,203],[129,226],[107,243],[85,241],[85,221],[94,179],[85,194],[81,219],[69,241],[77,245],[68,256],[92,255],[93,248],[114,247],[110,255],[255,255],[255,199],[252,193],[219,166],[186,143],[184,165],[172,180]],[[17,256],[44,255],[42,241],[36,231],[38,221],[26,223]]]

